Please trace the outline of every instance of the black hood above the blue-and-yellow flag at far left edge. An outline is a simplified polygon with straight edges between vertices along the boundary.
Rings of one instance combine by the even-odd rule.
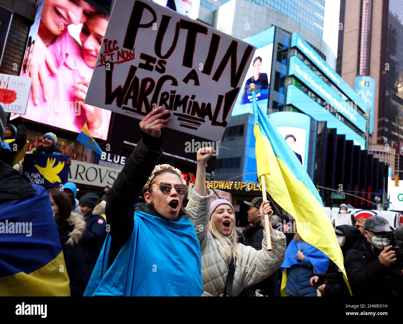
[[[35,192],[31,183],[25,181],[16,169],[0,161],[0,201],[20,199]]]

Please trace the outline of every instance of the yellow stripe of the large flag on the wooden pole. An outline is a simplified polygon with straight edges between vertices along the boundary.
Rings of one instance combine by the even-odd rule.
[[[309,189],[293,175],[287,164],[275,156],[270,141],[260,133],[257,124],[254,126],[254,133],[258,176],[264,174],[266,190],[277,204],[295,218],[297,230],[302,239],[325,253],[341,269],[351,294],[344,269],[343,253],[323,206]],[[260,172],[264,173],[261,174]],[[309,228],[304,226],[307,229],[305,231],[301,226],[303,223],[309,226]]]

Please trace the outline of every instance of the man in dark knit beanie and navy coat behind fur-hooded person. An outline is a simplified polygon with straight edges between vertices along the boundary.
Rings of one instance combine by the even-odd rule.
[[[80,210],[87,222],[87,229],[83,233],[81,248],[84,255],[85,280],[89,281],[92,270],[98,260],[102,245],[106,238],[106,221],[102,215],[94,215],[93,210],[98,204],[98,195],[87,193],[78,202]]]

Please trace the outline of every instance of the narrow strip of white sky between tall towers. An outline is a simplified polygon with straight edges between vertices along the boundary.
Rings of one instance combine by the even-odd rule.
[[[326,0],[323,23],[323,40],[337,57],[337,41],[339,39],[340,0]]]

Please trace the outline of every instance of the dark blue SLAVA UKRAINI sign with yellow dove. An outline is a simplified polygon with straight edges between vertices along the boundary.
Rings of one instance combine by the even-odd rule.
[[[44,187],[59,187],[69,178],[69,155],[26,154],[23,174],[31,183]]]

